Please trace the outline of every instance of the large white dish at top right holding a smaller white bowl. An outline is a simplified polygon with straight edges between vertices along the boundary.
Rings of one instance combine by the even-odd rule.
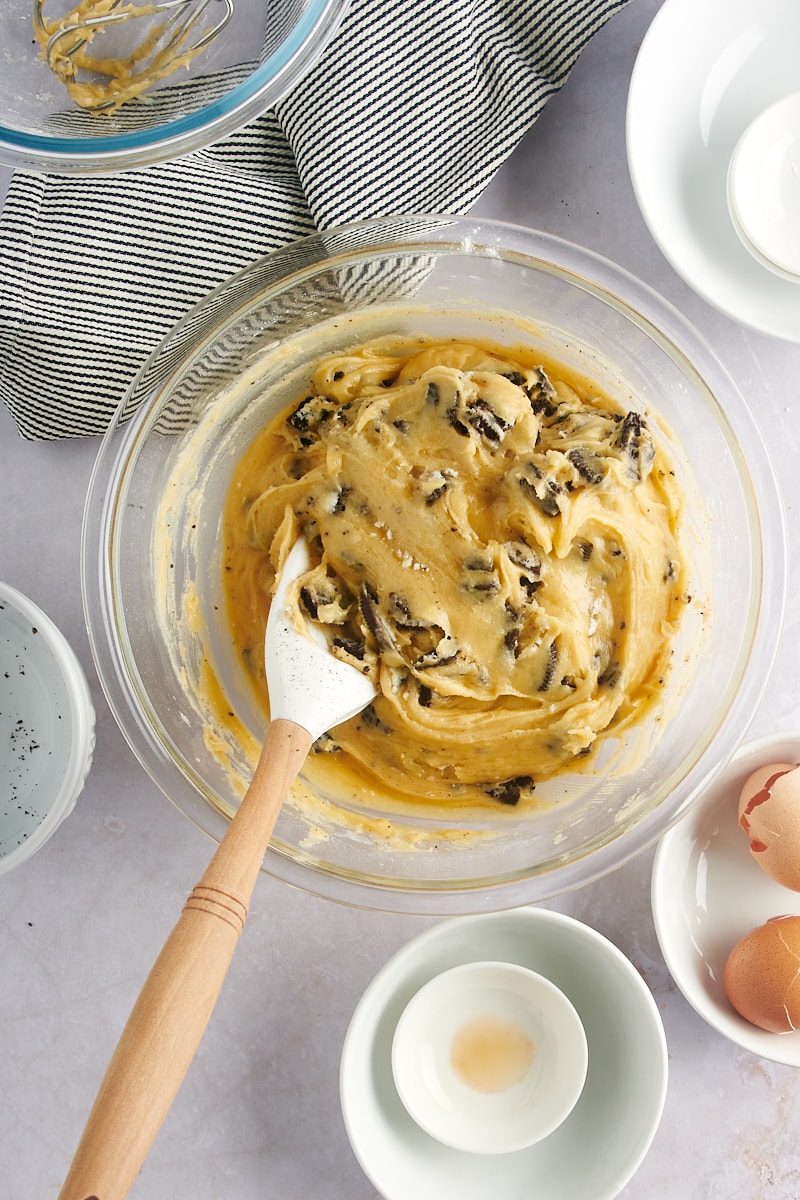
[[[727,202],[736,142],[798,90],[794,0],[664,0],[633,67],[627,157],[662,253],[705,300],[744,325],[800,342],[800,283],[741,244]]]

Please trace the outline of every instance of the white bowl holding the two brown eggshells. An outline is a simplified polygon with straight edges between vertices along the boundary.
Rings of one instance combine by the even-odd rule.
[[[739,828],[739,792],[757,767],[800,761],[800,733],[742,746],[699,804],[666,834],[652,868],[652,916],[669,972],[715,1030],[763,1058],[800,1067],[800,1032],[768,1033],[736,1013],[724,965],[736,942],[770,917],[800,914],[800,893],[775,883]]]

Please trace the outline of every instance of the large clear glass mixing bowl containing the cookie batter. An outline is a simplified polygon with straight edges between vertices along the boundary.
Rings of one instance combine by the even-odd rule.
[[[543,900],[619,866],[708,787],[758,706],[786,601],[783,510],[747,404],[664,300],[596,254],[501,223],[396,217],[296,241],[213,292],[144,365],[98,454],[83,539],[97,670],[144,767],[218,839],[264,730],[221,611],[231,472],[321,354],[401,330],[524,341],[644,404],[678,444],[693,599],[662,709],[537,785],[552,805],[398,816],[301,776],[265,869],[390,911]],[[215,726],[210,677],[239,737]]]

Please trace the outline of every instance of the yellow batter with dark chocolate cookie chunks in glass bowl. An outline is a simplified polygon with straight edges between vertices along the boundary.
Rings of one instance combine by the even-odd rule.
[[[523,349],[385,337],[317,366],[239,463],[231,634],[266,702],[296,535],[306,619],[379,695],[317,749],[419,800],[516,805],[657,702],[686,602],[680,496],[648,421]]]

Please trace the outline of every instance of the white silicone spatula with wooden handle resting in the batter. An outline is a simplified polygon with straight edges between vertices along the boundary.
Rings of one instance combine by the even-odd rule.
[[[173,1103],[245,924],[272,828],[312,742],[375,695],[355,667],[297,630],[290,584],[308,568],[302,539],[270,608],[271,721],[253,780],[167,938],[101,1084],[59,1200],[124,1200]]]

